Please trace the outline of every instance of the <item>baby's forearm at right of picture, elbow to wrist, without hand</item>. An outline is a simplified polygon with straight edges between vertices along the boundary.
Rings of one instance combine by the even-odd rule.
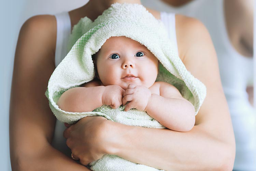
[[[186,132],[195,125],[195,108],[185,99],[152,94],[146,112],[160,124],[174,131]]]

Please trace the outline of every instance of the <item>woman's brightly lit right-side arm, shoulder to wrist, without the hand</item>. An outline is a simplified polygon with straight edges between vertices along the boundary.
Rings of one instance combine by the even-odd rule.
[[[176,132],[112,123],[119,137],[109,153],[163,170],[232,170],[234,134],[210,35],[198,20],[180,15],[176,31],[187,70],[207,87],[195,126]]]

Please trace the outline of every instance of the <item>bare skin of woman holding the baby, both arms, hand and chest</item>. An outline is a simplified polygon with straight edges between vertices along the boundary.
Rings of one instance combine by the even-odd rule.
[[[140,0],[90,0],[69,12],[71,28],[82,17],[95,20],[114,2],[141,3]],[[160,12],[148,11],[157,19],[163,17]],[[174,17],[172,33],[179,56],[187,70],[207,87],[207,97],[194,128],[184,133],[132,127],[97,116],[85,117],[64,132],[74,153],[72,157],[80,158],[80,163],[51,145],[56,119],[44,92],[56,67],[55,16],[28,19],[20,30],[14,64],[10,109],[12,169],[86,170],[83,165],[104,154],[115,154],[163,170],[231,170],[234,136],[210,35],[196,19]],[[76,151],[83,154],[75,156]]]

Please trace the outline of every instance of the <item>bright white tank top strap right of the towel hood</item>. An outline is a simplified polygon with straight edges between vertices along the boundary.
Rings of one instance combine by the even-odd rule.
[[[160,17],[168,31],[169,39],[174,45],[174,51],[179,54],[175,29],[175,13],[161,12]]]

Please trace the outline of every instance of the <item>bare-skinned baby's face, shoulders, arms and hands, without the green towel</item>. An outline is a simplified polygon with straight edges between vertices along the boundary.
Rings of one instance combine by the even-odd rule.
[[[60,109],[90,112],[102,105],[126,105],[125,111],[145,111],[171,130],[193,128],[193,104],[173,85],[156,82],[159,61],[144,45],[124,36],[111,37],[93,56],[96,79],[65,91],[57,102]]]

